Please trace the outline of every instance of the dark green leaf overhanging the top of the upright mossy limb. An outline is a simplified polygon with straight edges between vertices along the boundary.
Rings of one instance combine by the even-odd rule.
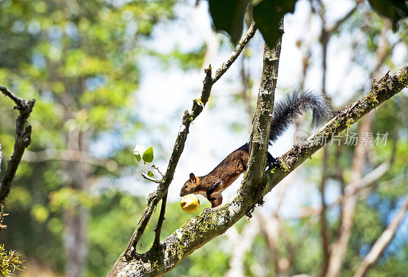
[[[264,37],[265,43],[273,47],[282,37],[279,22],[286,13],[293,13],[297,0],[264,0],[253,7],[253,20]]]

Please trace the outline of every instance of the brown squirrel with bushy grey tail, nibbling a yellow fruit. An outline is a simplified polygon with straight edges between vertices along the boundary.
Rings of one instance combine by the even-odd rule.
[[[295,91],[276,103],[273,108],[269,144],[276,141],[288,127],[304,112],[313,112],[312,127],[323,124],[331,119],[334,112],[322,93],[315,91]],[[189,180],[183,185],[180,196],[190,193],[205,196],[211,207],[222,203],[221,192],[231,185],[247,169],[249,144],[246,143],[218,164],[213,171],[201,177],[190,173]],[[268,152],[268,167],[272,168],[279,162]]]

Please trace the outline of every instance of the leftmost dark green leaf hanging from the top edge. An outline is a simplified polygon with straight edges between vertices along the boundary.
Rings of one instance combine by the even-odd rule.
[[[249,0],[209,0],[209,10],[216,31],[224,31],[236,45],[241,38],[245,10]]]

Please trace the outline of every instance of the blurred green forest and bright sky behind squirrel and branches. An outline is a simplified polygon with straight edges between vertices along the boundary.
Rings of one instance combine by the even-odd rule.
[[[201,90],[202,69],[218,68],[232,50],[224,35],[212,32],[208,3],[194,5],[0,1],[0,84],[36,99],[32,144],[7,199],[8,228],[0,233],[6,250],[25,260],[16,275],[93,277],[112,268],[154,187],[140,176],[144,167],[133,148],[153,145],[154,163],[164,170],[184,110]],[[372,78],[408,61],[408,22],[392,33],[364,1],[302,0],[284,26],[275,98],[309,88],[324,91],[339,109],[367,93]],[[169,189],[163,238],[193,216],[181,210],[178,196],[188,174],[208,173],[247,140],[262,53],[257,34],[190,129]],[[17,112],[10,99],[1,100],[4,172]],[[296,131],[311,133],[309,122],[299,120],[272,154],[289,150]],[[360,135],[353,146],[343,135],[340,146],[320,150],[265,197],[249,222],[241,219],[166,276],[322,276],[329,259],[338,267],[328,273],[352,276],[398,212],[399,227],[367,276],[405,276],[407,90],[349,132],[374,137],[364,144]],[[377,132],[389,133],[385,145],[374,143]],[[198,212],[210,207],[200,200]],[[148,226],[138,252],[148,250],[154,228]]]

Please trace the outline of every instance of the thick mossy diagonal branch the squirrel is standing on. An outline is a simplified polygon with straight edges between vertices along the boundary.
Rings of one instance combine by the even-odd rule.
[[[168,272],[194,250],[224,233],[251,210],[258,199],[248,195],[250,191],[258,191],[260,197],[266,195],[291,171],[322,148],[324,144],[321,142],[324,138],[330,141],[331,135],[338,135],[406,86],[408,86],[408,66],[404,66],[392,76],[387,74],[379,82],[373,82],[372,90],[367,95],[339,111],[337,117],[326,123],[308,140],[301,145],[295,145],[283,155],[280,158],[283,161],[282,167],[275,169],[274,173],[266,174],[262,184],[251,186],[244,183],[243,187],[247,186],[247,189],[239,189],[236,195],[225,204],[214,209],[205,209],[188,220],[173,234],[162,240],[160,247],[155,251],[147,251],[132,260],[119,259],[108,276],[160,276]]]

